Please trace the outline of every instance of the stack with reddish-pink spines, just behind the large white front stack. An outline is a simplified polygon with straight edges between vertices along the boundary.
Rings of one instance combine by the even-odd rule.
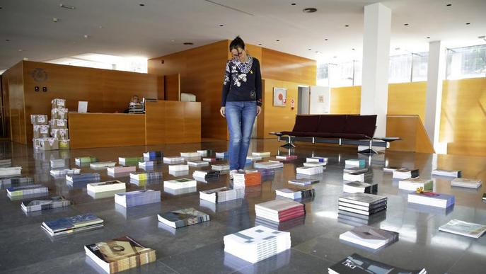
[[[277,199],[255,205],[255,214],[272,222],[285,222],[306,215],[306,210],[300,202]]]

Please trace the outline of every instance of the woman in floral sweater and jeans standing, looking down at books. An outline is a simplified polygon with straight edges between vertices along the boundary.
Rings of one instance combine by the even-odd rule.
[[[262,112],[262,75],[260,62],[245,50],[245,42],[238,36],[229,44],[233,58],[226,62],[221,108],[229,127],[229,169],[244,171],[246,154],[255,118]]]

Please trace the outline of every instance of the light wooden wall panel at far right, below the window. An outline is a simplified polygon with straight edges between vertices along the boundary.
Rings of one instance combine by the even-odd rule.
[[[486,79],[443,82],[440,142],[448,154],[486,156]]]

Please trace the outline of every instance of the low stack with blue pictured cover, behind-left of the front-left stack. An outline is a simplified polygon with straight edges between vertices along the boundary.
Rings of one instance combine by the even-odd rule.
[[[59,218],[52,221],[42,222],[44,229],[51,236],[71,234],[103,227],[103,219],[91,213],[76,215],[73,217]]]

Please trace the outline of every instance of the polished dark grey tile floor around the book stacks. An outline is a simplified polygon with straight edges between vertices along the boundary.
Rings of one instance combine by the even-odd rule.
[[[282,144],[282,143],[280,143]],[[270,151],[287,154],[275,140],[253,140],[250,151]],[[323,147],[302,144],[291,153],[299,159],[289,161],[284,169],[265,178],[261,187],[247,188],[245,198],[216,207],[199,201],[199,193],[171,195],[163,192],[163,182],[144,186],[127,184],[127,190],[150,188],[161,190],[161,204],[134,207],[130,210],[115,206],[113,198],[93,199],[86,188],[70,189],[65,179],[49,175],[50,159],[69,159],[74,167],[76,156],[96,156],[98,161],[117,161],[118,156],[141,156],[148,150],[161,150],[168,156],[196,149],[226,151],[226,142],[197,144],[170,144],[151,147],[119,147],[106,149],[72,149],[71,151],[34,152],[30,147],[11,142],[0,142],[0,156],[12,159],[13,165],[23,166],[23,174],[33,176],[37,183],[49,187],[53,195],[64,195],[74,205],[61,210],[47,210],[25,215],[19,201],[6,197],[0,190],[0,272],[1,273],[96,273],[98,268],[87,259],[83,246],[117,236],[129,235],[156,250],[157,261],[128,273],[328,273],[328,266],[351,253],[359,253],[383,263],[402,268],[426,268],[427,273],[485,273],[486,236],[470,239],[445,232],[438,227],[449,219],[463,219],[486,224],[486,203],[479,190],[451,188],[449,178],[436,177],[436,192],[456,195],[451,212],[417,210],[407,205],[407,195],[398,190],[398,181],[390,173],[383,173],[383,165],[415,167],[424,178],[430,178],[433,166],[442,169],[461,169],[466,178],[480,178],[486,182],[486,157],[435,156],[408,152],[386,152],[372,157],[357,154],[356,149]],[[253,227],[255,204],[273,200],[274,190],[286,187],[289,178],[295,177],[296,166],[306,156],[329,157],[320,183],[314,185],[316,198],[306,202],[306,218],[285,229],[291,232],[291,249],[260,263],[250,264],[224,253],[223,236]],[[363,157],[373,170],[369,180],[378,183],[378,194],[388,197],[386,216],[371,224],[374,227],[400,233],[400,239],[377,253],[357,249],[339,241],[341,233],[352,225],[337,219],[337,198],[342,193],[342,169],[345,159]],[[156,166],[163,171],[163,180],[174,178],[166,164]],[[105,170],[99,172],[102,180],[110,180]],[[193,168],[182,177],[190,178]],[[118,178],[129,183],[129,177]],[[198,183],[197,190],[230,185],[227,175],[219,181]],[[168,230],[159,227],[157,213],[180,207],[195,207],[211,215],[210,222]],[[52,239],[40,228],[42,221],[92,212],[105,220],[105,227],[92,232],[72,234]]]

